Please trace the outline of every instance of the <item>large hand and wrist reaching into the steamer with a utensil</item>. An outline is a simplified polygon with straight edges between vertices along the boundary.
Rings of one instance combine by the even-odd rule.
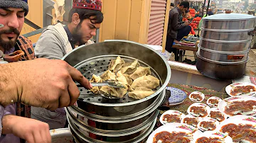
[[[74,81],[91,88],[80,71],[59,59],[0,64],[0,69],[0,103],[4,106],[21,102],[55,110],[78,100],[80,92]]]

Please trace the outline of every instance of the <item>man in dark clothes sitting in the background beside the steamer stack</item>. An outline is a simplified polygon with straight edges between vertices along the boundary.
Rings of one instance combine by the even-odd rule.
[[[168,31],[166,36],[166,47],[168,52],[174,52],[175,60],[178,61],[176,55],[176,48],[172,48],[174,42],[178,43],[184,36],[188,35],[191,31],[189,21],[181,22],[181,15],[188,11],[188,1],[183,1],[177,7],[171,9],[169,13]]]

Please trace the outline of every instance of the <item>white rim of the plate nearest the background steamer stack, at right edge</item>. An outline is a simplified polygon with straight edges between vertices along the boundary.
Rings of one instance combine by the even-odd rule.
[[[256,91],[251,91],[250,93],[237,93],[235,95],[232,95],[231,91],[233,88],[235,88],[235,86],[254,86],[256,89],[255,84],[247,83],[247,82],[230,84],[225,87],[225,91],[226,93],[228,93],[229,96],[238,96],[238,95],[239,96],[256,96]]]

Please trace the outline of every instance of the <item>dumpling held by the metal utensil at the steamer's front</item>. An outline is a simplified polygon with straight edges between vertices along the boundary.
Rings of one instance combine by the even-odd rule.
[[[117,98],[123,98],[128,91],[128,87],[121,82],[119,82],[119,84],[122,84],[124,88],[113,88],[110,86],[102,86],[102,88],[100,88],[100,91],[102,91],[104,94],[110,94],[111,96],[114,96]]]

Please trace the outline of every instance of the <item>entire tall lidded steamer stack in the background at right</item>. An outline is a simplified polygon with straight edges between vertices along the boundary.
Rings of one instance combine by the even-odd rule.
[[[245,74],[255,18],[230,11],[203,18],[198,71],[213,79],[236,79]]]

